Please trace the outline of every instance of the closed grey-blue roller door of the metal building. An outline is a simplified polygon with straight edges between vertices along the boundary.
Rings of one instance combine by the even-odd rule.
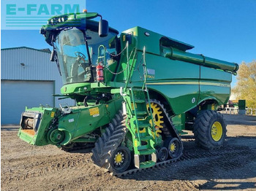
[[[19,124],[25,106],[53,106],[53,82],[1,80],[1,124]]]

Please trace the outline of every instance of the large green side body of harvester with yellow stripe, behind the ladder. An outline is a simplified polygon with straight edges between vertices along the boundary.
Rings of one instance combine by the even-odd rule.
[[[148,32],[150,36],[146,36],[146,32]],[[226,103],[230,95],[232,74],[223,70],[201,66],[199,61],[198,64],[195,63],[196,60],[194,57],[188,57],[189,55],[194,55],[191,53],[187,55],[184,61],[166,58],[165,55],[168,50],[170,51],[170,48],[159,46],[159,40],[162,38],[162,35],[140,27],[131,28],[121,34],[120,39],[123,48],[125,41],[122,40],[125,39],[123,36],[126,34],[133,34],[134,36],[132,38],[132,44],[129,46],[130,52],[133,47],[137,47],[138,49],[134,67],[135,71],[132,71],[132,83],[129,84],[130,86],[141,87],[142,85],[141,71],[143,69],[142,66],[140,66],[142,51],[140,50],[142,50],[143,45],[145,45],[147,52],[147,69],[151,71],[148,72],[148,89],[163,95],[169,102],[174,114],[183,114],[208,99],[214,99],[219,105]],[[182,42],[173,43],[178,44]],[[165,42],[165,44],[167,43]],[[177,46],[178,45],[176,45],[176,47]],[[185,47],[182,47],[183,49],[189,49],[191,45],[184,44],[184,46]],[[179,52],[181,52],[181,50],[179,50]],[[195,55],[195,57],[196,56],[198,55]],[[127,68],[126,57],[126,54],[121,57],[121,68],[119,70]],[[202,56],[200,56],[200,58],[202,58]],[[219,60],[213,61],[217,62]],[[224,69],[230,67],[228,69],[234,72],[237,69],[236,64],[224,61],[219,61],[217,66],[218,68],[223,66]],[[124,82],[126,77],[125,72],[118,74],[116,75],[116,81]]]

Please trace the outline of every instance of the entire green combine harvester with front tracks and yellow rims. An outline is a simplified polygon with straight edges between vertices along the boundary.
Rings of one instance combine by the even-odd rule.
[[[184,130],[204,149],[224,144],[217,109],[237,63],[189,53],[192,45],[141,27],[118,36],[97,12],[51,17],[40,33],[64,83],[56,96],[75,106],[26,108],[23,141],[66,151],[93,145],[94,163],[117,175],[178,160]]]

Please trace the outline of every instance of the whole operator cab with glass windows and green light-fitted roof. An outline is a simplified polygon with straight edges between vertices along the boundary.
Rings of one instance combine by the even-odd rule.
[[[100,17],[99,22],[94,19]],[[97,12],[57,15],[42,26],[40,33],[53,46],[50,61],[56,61],[64,85],[96,82],[96,66],[116,69],[118,31],[108,27]],[[105,70],[107,71],[107,70]],[[106,77],[111,79],[111,75]]]

